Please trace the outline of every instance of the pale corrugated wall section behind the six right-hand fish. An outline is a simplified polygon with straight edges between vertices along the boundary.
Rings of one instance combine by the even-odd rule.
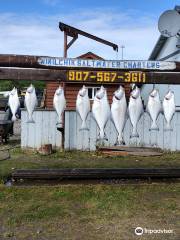
[[[67,150],[96,150],[98,144],[98,133],[96,122],[90,113],[87,119],[89,131],[79,131],[81,120],[75,111],[65,112],[65,144]],[[144,113],[138,123],[139,138],[130,138],[131,123],[126,121],[124,129],[124,139],[126,146],[160,147],[164,150],[180,150],[180,112],[176,112],[173,120],[173,131],[165,131],[164,116],[160,114],[158,118],[159,131],[149,131],[151,120],[147,113]],[[116,142],[117,132],[112,121],[108,121],[105,128],[108,141],[104,141],[106,146],[113,146]]]

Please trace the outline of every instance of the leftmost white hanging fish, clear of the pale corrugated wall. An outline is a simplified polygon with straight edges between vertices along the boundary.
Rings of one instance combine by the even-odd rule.
[[[16,113],[18,108],[20,107],[20,102],[18,98],[17,88],[13,88],[12,91],[9,93],[9,100],[8,100],[8,106],[11,109],[12,112],[12,121],[16,121]]]

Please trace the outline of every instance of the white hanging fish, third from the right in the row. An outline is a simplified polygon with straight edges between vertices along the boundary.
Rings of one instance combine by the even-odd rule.
[[[143,114],[143,111],[144,109],[140,89],[136,86],[131,92],[128,106],[129,118],[133,127],[131,137],[139,137],[137,132],[137,124],[141,115]]]

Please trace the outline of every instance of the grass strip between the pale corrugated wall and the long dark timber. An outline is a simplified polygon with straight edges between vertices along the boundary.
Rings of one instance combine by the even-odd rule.
[[[0,159],[3,158],[0,152]],[[128,167],[180,167],[180,153],[164,153],[159,157],[108,157],[98,152],[56,152],[50,156],[11,150],[11,158],[0,161],[0,179],[6,179],[13,169],[35,168],[128,168]]]

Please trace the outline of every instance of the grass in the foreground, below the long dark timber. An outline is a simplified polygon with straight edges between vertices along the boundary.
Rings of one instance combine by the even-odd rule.
[[[178,183],[1,186],[0,192],[0,239],[136,239],[137,226],[174,230],[154,239],[180,236]]]

